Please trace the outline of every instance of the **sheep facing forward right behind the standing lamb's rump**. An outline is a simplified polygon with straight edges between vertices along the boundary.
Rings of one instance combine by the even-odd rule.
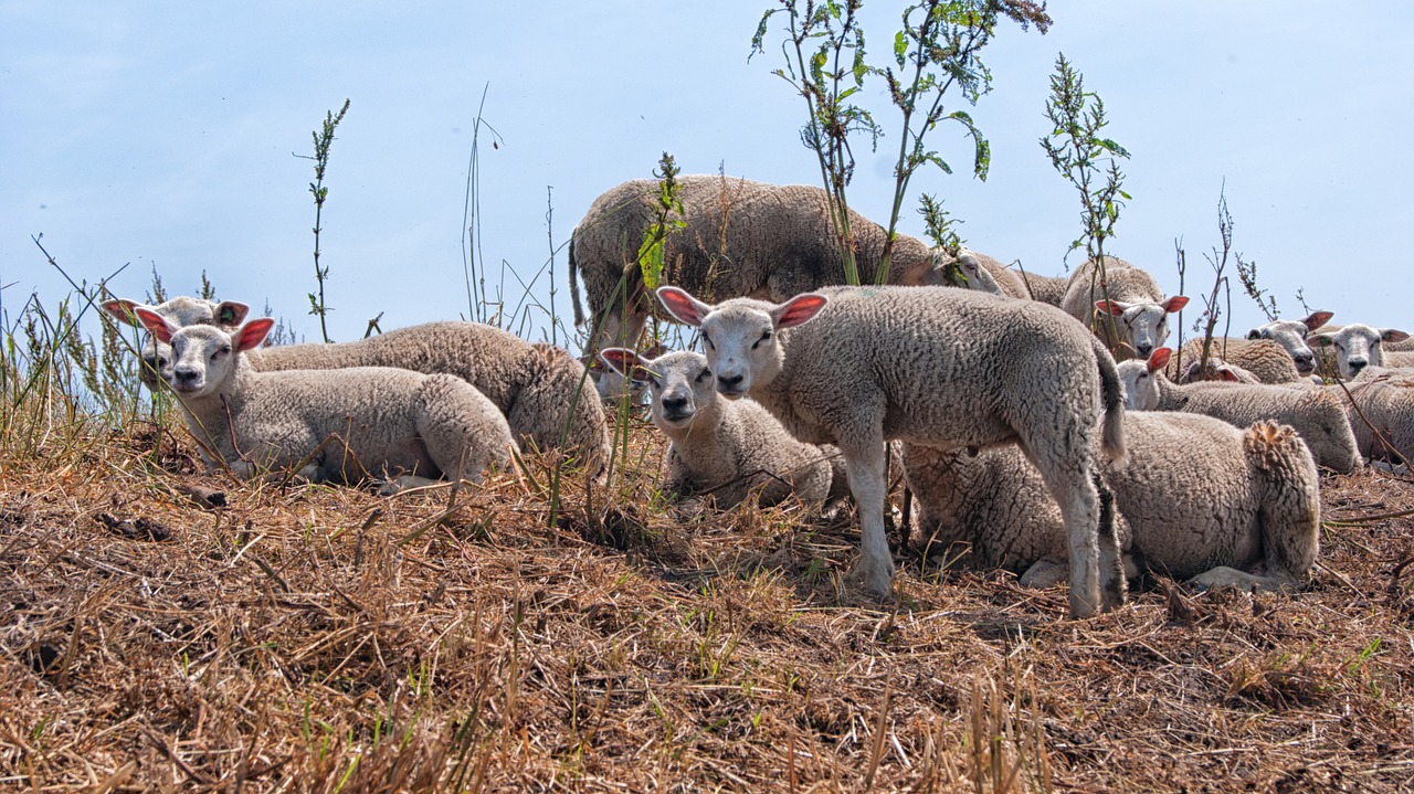
[[[1186,307],[1188,298],[1164,298],[1152,275],[1109,256],[1104,284],[1094,261],[1086,261],[1070,274],[1060,308],[1093,328],[1117,362],[1147,359],[1168,339],[1168,315]]]

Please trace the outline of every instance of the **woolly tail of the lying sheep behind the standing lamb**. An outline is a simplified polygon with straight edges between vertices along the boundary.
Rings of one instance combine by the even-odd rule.
[[[1290,425],[1260,421],[1243,432],[1243,451],[1263,482],[1261,547],[1267,575],[1305,581],[1321,548],[1321,475]]]

